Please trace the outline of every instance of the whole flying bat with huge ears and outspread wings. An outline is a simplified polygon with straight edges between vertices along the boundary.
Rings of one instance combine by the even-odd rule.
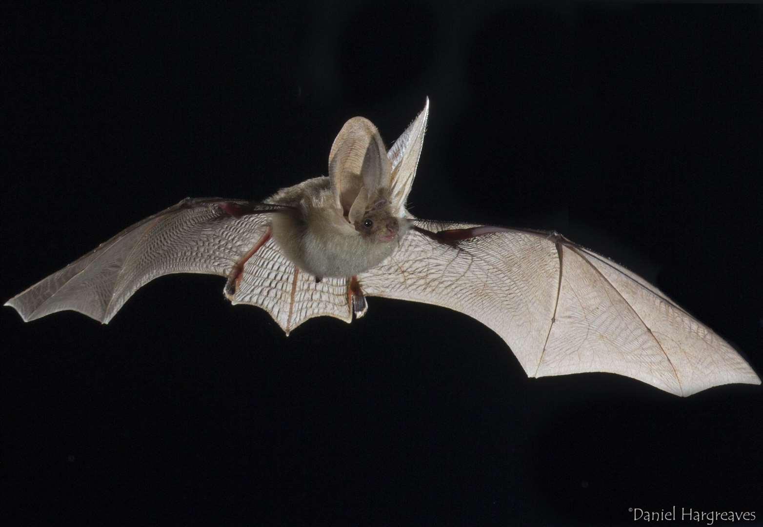
[[[493,329],[530,377],[605,371],[671,394],[760,384],[736,350],[662,291],[556,232],[421,220],[406,209],[423,111],[387,150],[353,117],[328,175],[247,201],[185,198],[11,298],[24,321],[75,310],[108,323],[172,273],[226,278],[233,304],[288,335],[312,317],[365,316],[366,297],[436,304]]]

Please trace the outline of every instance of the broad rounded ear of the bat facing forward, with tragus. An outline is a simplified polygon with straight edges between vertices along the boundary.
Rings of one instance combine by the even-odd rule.
[[[377,188],[389,187],[390,170],[384,143],[372,122],[365,117],[347,121],[329,154],[329,177],[336,207],[349,214],[353,203],[360,200],[365,210],[365,201]],[[355,208],[360,206],[359,203]]]

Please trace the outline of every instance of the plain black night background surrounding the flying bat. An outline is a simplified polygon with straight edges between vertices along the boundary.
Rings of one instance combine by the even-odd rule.
[[[391,144],[429,95],[414,214],[559,230],[763,372],[759,6],[177,2],[6,25],[3,299],[185,196],[325,174],[349,117]],[[527,379],[475,320],[378,298],[286,338],[222,285],[160,278],[108,326],[0,311],[6,525],[763,519],[761,387]]]

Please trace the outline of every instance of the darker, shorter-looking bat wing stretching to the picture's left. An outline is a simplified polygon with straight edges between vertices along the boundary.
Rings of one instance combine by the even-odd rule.
[[[24,321],[74,310],[108,323],[138,288],[162,275],[227,276],[265,233],[278,205],[185,198],[8,300]]]

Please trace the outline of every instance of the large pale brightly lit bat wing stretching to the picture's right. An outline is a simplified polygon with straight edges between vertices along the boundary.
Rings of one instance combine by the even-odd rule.
[[[681,396],[761,382],[727,342],[657,288],[557,233],[414,226],[398,252],[359,276],[365,294],[479,320],[530,377],[607,371]]]

